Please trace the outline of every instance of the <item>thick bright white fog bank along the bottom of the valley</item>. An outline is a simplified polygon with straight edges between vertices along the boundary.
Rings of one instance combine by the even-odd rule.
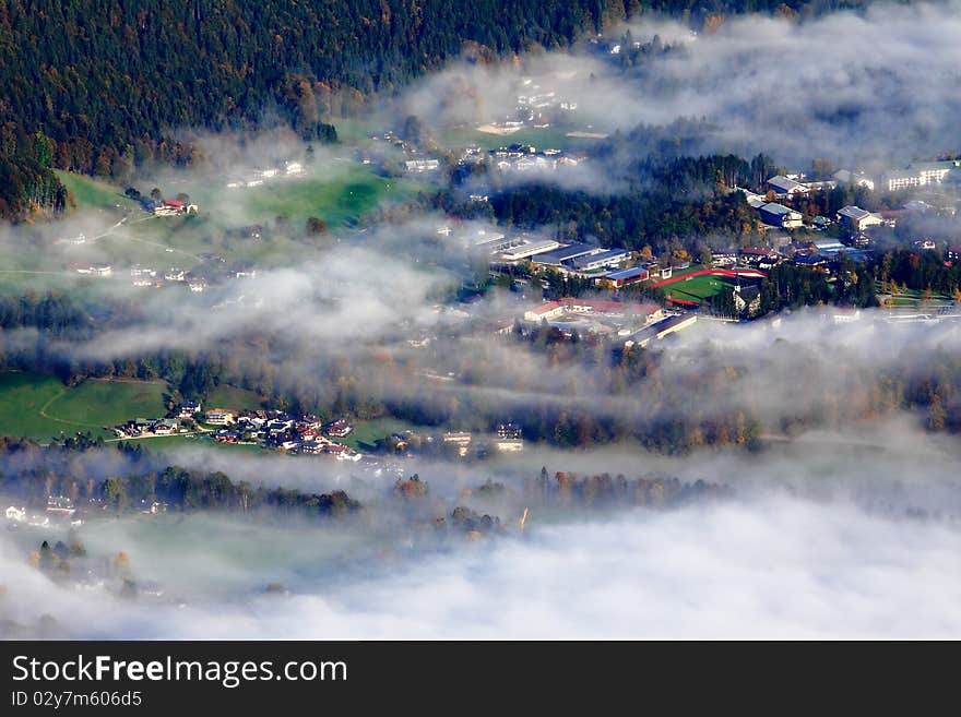
[[[785,494],[543,526],[535,518],[524,538],[415,558],[352,552],[358,538],[342,531],[225,529],[199,517],[176,537],[128,525],[91,540],[122,543],[139,576],[167,578],[173,605],[56,586],[4,535],[2,614],[27,631],[91,638],[961,634],[957,525]],[[256,589],[269,579],[289,593]]]

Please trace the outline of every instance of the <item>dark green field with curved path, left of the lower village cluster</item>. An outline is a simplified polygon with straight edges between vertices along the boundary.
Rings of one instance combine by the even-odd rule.
[[[68,389],[52,377],[0,373],[0,434],[47,439],[61,432],[91,431],[108,437],[105,426],[166,414],[163,383],[85,381]]]

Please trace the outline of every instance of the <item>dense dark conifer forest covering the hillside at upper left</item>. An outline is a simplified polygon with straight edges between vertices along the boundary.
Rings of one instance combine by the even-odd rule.
[[[324,120],[438,68],[570,44],[641,10],[695,24],[732,12],[804,14],[788,0],[0,0],[0,217],[62,207],[51,168],[123,179],[194,160],[176,130],[277,118],[327,141]],[[843,4],[857,4],[844,2]]]

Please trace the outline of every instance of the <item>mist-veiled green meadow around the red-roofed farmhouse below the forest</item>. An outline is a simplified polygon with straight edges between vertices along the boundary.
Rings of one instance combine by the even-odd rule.
[[[271,226],[280,215],[288,217],[295,234],[302,231],[310,216],[320,217],[336,230],[353,225],[376,206],[406,201],[424,188],[408,179],[381,177],[370,167],[342,156],[319,162],[302,179],[280,179],[254,188],[232,190],[226,179],[185,178],[162,189],[168,194],[189,194],[200,206],[199,215],[154,217],[142,212],[119,187],[69,172],[58,176],[76,204],[71,211],[79,218],[83,214],[80,224],[64,225],[63,231],[75,236],[82,230],[86,242],[55,242],[46,252],[25,251],[25,247],[14,244],[0,248],[0,291],[57,289],[96,297],[115,285],[129,286],[126,271],[130,265],[142,264],[158,272],[175,266],[193,270],[202,263],[201,254],[206,253],[261,270],[286,266],[292,256],[310,251],[302,241],[277,235],[268,240],[227,239],[225,231],[247,224]],[[146,184],[141,190],[149,191]],[[68,268],[71,262],[111,263],[115,276],[80,276]]]

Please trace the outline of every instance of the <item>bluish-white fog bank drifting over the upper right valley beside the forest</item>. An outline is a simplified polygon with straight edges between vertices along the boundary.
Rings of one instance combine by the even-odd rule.
[[[589,53],[583,44],[503,65],[455,64],[410,92],[403,107],[438,128],[489,122],[512,115],[518,95],[536,87],[577,103],[569,116],[551,112],[570,129],[705,119],[702,151],[763,151],[802,170],[814,157],[883,169],[958,151],[957,1],[876,3],[803,22],[744,15],[697,37],[666,21],[629,29],[634,40],[656,35],[672,49],[626,70],[619,56]],[[619,41],[620,32],[608,37]]]

